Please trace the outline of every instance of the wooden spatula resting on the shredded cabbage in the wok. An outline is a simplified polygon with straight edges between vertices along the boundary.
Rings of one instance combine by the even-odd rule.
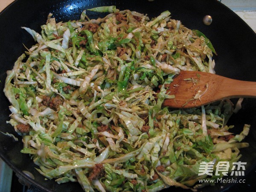
[[[181,71],[166,87],[175,99],[165,99],[163,105],[171,108],[194,108],[222,99],[256,98],[256,82],[198,71]]]

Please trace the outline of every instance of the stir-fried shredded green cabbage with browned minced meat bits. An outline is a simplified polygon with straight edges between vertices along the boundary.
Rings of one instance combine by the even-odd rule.
[[[250,126],[230,133],[229,100],[162,107],[180,70],[214,73],[204,34],[169,11],[152,20],[115,6],[89,11],[110,14],[89,20],[84,11],[66,23],[49,15],[41,34],[23,27],[37,44],[8,71],[9,123],[38,172],[90,192],[154,192],[193,188],[207,177],[201,162],[239,160]]]

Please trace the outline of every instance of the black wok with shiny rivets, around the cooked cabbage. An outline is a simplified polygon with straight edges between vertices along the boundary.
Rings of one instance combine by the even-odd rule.
[[[0,131],[14,134],[19,141],[0,134],[0,157],[21,177],[26,183],[37,186],[44,191],[81,191],[78,183],[64,183],[58,185],[54,180],[45,180],[35,169],[35,165],[27,154],[21,154],[23,148],[21,137],[18,136],[9,120],[9,102],[3,94],[6,70],[13,67],[17,57],[25,47],[31,47],[35,42],[21,26],[41,31],[40,26],[47,20],[51,12],[57,21],[79,19],[84,9],[96,6],[116,5],[117,9],[131,9],[147,13],[155,17],[165,10],[172,13],[172,18],[181,20],[189,29],[198,29],[212,42],[218,55],[214,56],[215,70],[218,75],[244,81],[256,81],[256,34],[235,13],[217,0],[16,0],[0,14]],[[205,15],[212,16],[212,24],[206,26],[202,19]],[[102,15],[93,13],[90,18]],[[256,99],[244,99],[239,113],[234,114],[229,125],[235,125],[233,131],[239,133],[244,123],[251,125],[250,134],[245,142],[250,147],[241,149],[241,162],[246,162],[245,174],[255,167],[256,162]],[[35,179],[24,174],[31,172]],[[255,173],[253,175],[255,180]],[[241,184],[221,183],[222,186],[212,186],[200,191],[220,191],[226,189],[239,189]],[[253,187],[253,186],[252,186]],[[245,188],[243,188],[245,189]],[[248,189],[249,191],[253,188]],[[166,189],[168,191],[169,189]],[[172,190],[183,191],[182,189]]]

